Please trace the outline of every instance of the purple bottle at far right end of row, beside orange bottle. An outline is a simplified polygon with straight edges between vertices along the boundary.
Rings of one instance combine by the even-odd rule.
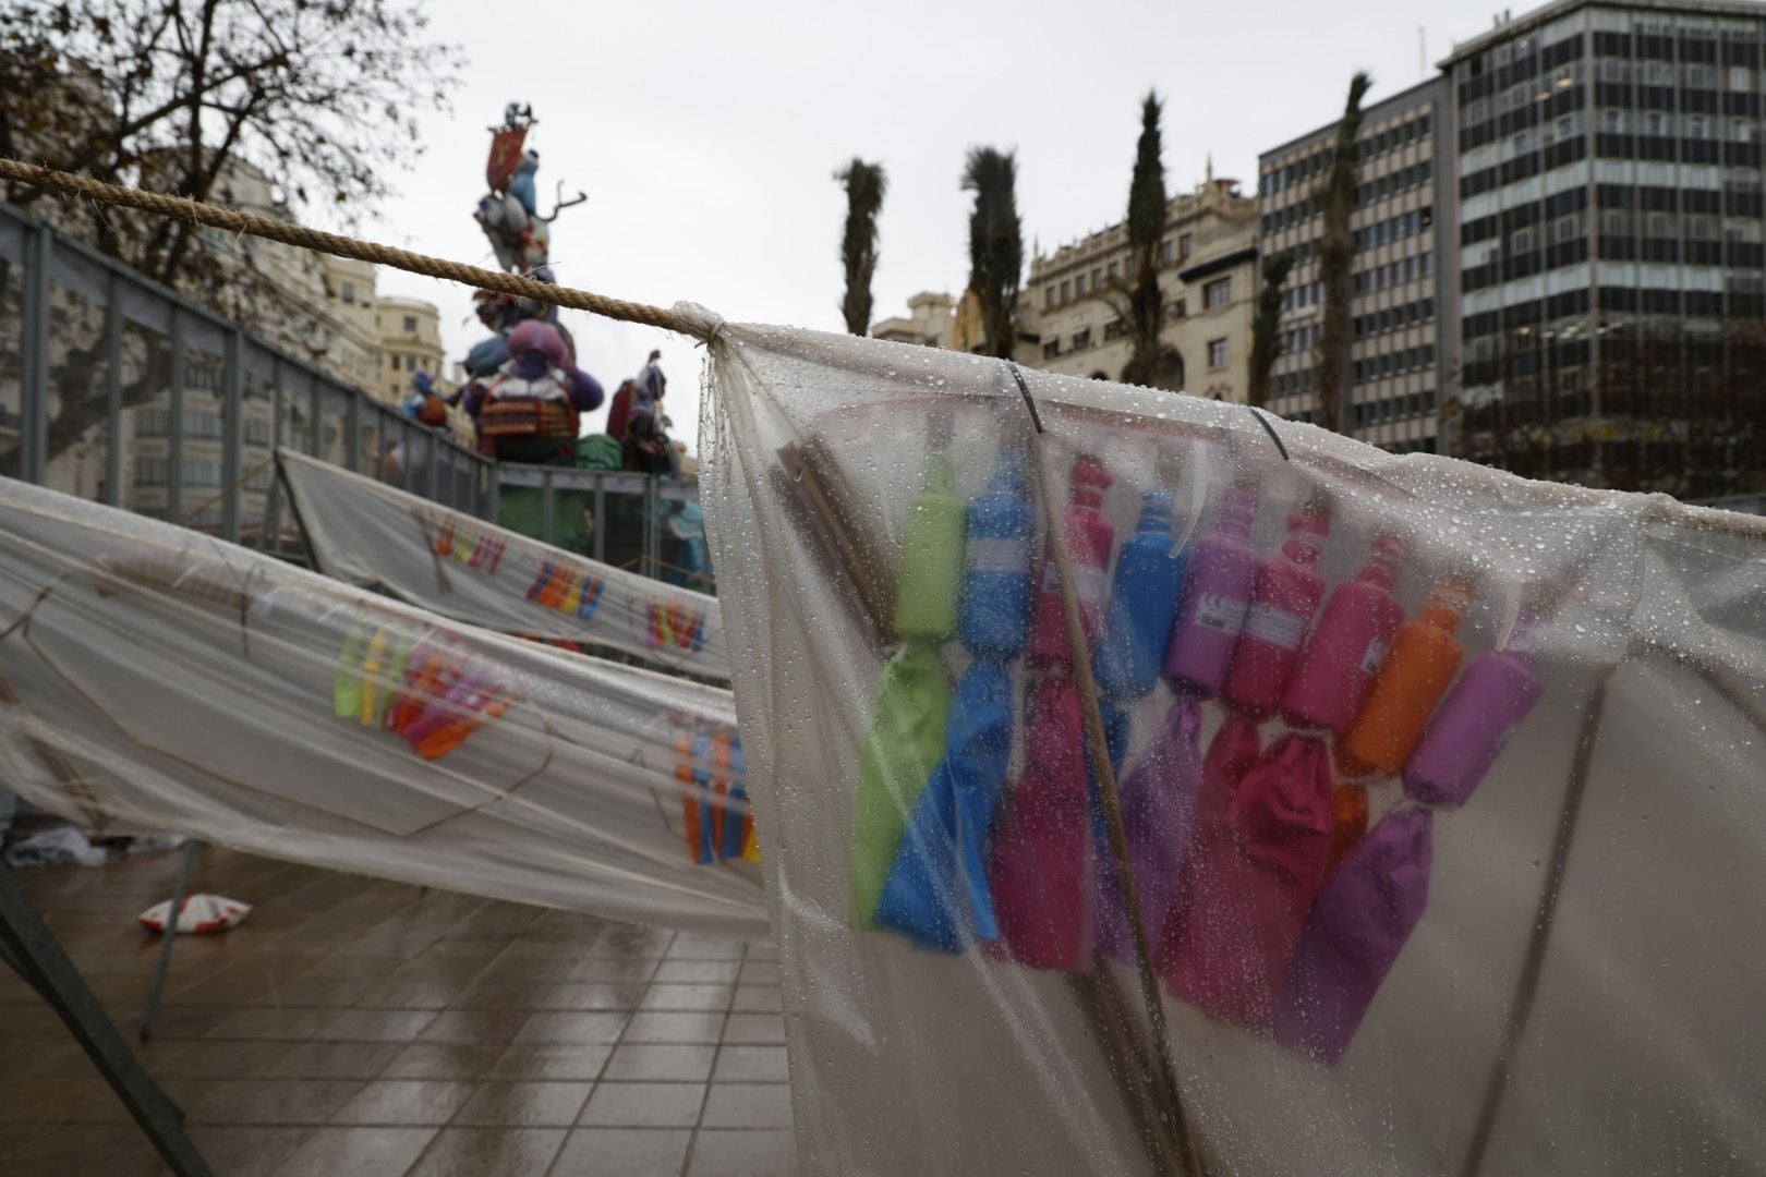
[[[1425,805],[1464,805],[1545,693],[1533,674],[1542,625],[1524,616],[1503,649],[1473,658],[1404,764],[1404,791]]]

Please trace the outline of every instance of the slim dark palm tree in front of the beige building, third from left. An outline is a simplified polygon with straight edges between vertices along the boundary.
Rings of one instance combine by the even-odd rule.
[[[1141,141],[1128,182],[1128,284],[1111,286],[1111,302],[1128,332],[1134,351],[1121,369],[1128,385],[1176,388],[1183,383],[1178,349],[1160,341],[1166,318],[1158,289],[1158,245],[1166,238],[1166,164],[1160,159],[1160,102],[1151,90],[1141,102]]]

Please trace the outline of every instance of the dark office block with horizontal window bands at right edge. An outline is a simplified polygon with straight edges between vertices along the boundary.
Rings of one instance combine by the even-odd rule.
[[[1561,0],[1455,46],[1452,452],[1766,489],[1766,5]]]

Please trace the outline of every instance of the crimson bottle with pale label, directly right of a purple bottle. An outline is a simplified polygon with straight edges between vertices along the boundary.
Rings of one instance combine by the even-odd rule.
[[[1245,632],[1233,651],[1222,697],[1240,715],[1263,722],[1275,715],[1300,658],[1307,626],[1324,598],[1319,551],[1330,536],[1330,514],[1323,499],[1287,519],[1282,551],[1257,568]]]

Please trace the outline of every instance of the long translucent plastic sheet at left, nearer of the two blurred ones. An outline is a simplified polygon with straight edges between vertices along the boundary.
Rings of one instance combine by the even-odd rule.
[[[766,932],[728,690],[11,480],[0,776],[99,829]]]

